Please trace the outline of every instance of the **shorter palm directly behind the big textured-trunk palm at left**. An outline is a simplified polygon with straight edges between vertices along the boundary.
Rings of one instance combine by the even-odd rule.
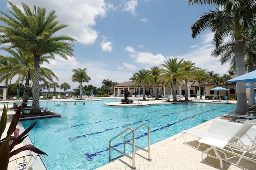
[[[8,65],[3,65],[0,67],[0,72],[2,73],[2,75],[0,75],[0,81],[6,78],[12,81],[14,76],[18,76],[15,86],[18,85],[20,82],[25,81],[25,88],[24,88],[24,93],[22,98],[24,103],[22,103],[22,106],[26,107],[28,103],[28,98],[29,98],[28,96],[29,95],[28,87],[30,85],[29,82],[34,77],[33,55],[31,53],[28,53],[27,51],[22,51],[19,48],[15,48],[15,50],[13,50],[13,49],[1,47],[0,49],[3,49],[11,54],[11,56],[0,55],[0,60],[10,63]],[[44,56],[40,59],[40,62],[49,63],[48,58],[52,58],[52,57]],[[58,77],[56,77],[56,75],[50,69],[45,67],[40,67],[40,80],[42,81],[52,80],[52,77],[58,79]]]

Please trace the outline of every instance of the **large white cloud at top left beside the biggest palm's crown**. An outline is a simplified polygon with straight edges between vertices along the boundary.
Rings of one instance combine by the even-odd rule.
[[[11,2],[22,9],[21,2],[24,0],[11,0]],[[69,35],[84,45],[93,44],[98,38],[98,32],[93,29],[96,24],[95,20],[106,17],[107,11],[113,10],[112,4],[105,3],[104,0],[47,0],[47,3],[46,1],[28,0],[25,3],[31,9],[34,5],[44,7],[47,9],[47,13],[55,10],[56,20],[60,21],[61,24],[68,25],[68,27],[58,31],[57,34]]]

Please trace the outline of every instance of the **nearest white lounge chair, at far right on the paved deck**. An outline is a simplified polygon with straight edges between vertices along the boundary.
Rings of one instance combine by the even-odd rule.
[[[236,143],[240,143],[242,146],[242,148],[240,148],[240,152],[242,152],[242,154],[240,154],[240,158],[238,159],[238,161],[236,163],[233,162],[229,162],[227,160],[227,156],[226,153],[222,152],[225,156],[225,162],[228,162],[232,165],[238,165],[239,162],[242,160],[242,158],[244,157],[244,154],[246,154],[247,152],[250,152],[252,150],[256,149],[256,144],[255,144],[255,136],[253,138],[251,138],[248,135],[249,130],[254,127],[254,125],[256,125],[256,119],[252,119],[252,120],[248,120],[246,121],[244,124],[242,124],[242,126],[240,126],[238,129],[236,129],[236,132],[230,133],[228,136],[223,137],[223,136],[206,136],[204,138],[202,138],[201,140],[199,140],[198,142],[200,143],[204,143],[204,144],[208,144],[211,147],[207,148],[204,152],[202,152],[202,161],[203,161],[203,154],[206,153],[208,156],[208,152],[209,150],[214,150],[214,153],[216,154],[216,156],[220,159],[220,168],[223,168],[223,163],[222,163],[222,158],[220,156],[219,152],[222,152],[221,150],[217,149],[217,148],[224,148],[225,146],[231,146],[230,144],[236,142]],[[230,127],[226,127],[226,128],[230,128]],[[225,129],[226,130],[226,129]],[[225,131],[222,129],[222,131]],[[230,137],[231,135],[231,137]],[[248,138],[248,139],[247,139]],[[246,147],[246,145],[244,144],[244,140],[250,140],[250,141],[254,141],[254,148],[253,149],[248,149],[248,147]],[[252,146],[252,147],[253,147]],[[218,151],[217,151],[218,150]],[[238,150],[238,149],[237,149]],[[254,154],[255,156],[255,154]]]

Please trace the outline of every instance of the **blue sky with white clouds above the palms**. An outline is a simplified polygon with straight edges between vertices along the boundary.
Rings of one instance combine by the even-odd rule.
[[[44,64],[58,76],[58,83],[67,82],[71,89],[72,69],[87,68],[89,83],[102,86],[103,79],[123,83],[132,73],[160,66],[170,57],[190,60],[196,67],[228,74],[229,63],[210,56],[214,49],[212,33],[205,31],[195,39],[190,27],[208,6],[190,5],[188,0],[10,0],[19,8],[25,2],[56,11],[56,20],[69,26],[58,34],[72,36],[74,57],[64,60],[55,56]],[[0,10],[10,10],[6,0]],[[8,13],[10,14],[10,13]],[[0,23],[2,24],[2,23]],[[6,55],[0,51],[1,55]],[[12,81],[14,83],[14,81]],[[0,83],[4,85],[4,83]]]

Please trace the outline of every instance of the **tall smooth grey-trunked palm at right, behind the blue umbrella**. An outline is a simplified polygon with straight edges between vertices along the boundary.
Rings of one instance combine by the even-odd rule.
[[[256,1],[255,0],[189,0],[188,4],[217,5],[217,10],[204,13],[191,27],[192,38],[200,32],[210,28],[214,32],[213,42],[219,47],[226,36],[234,35],[235,61],[237,75],[245,73],[244,43],[242,29],[250,30],[254,26]],[[220,10],[221,8],[221,10]],[[246,100],[245,83],[237,83],[236,114],[244,115],[249,112]]]

